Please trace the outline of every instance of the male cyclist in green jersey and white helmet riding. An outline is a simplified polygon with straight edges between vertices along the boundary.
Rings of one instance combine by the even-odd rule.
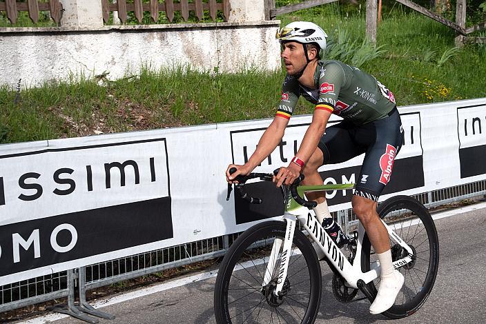
[[[405,281],[393,269],[389,236],[376,213],[378,197],[389,182],[393,161],[402,144],[402,124],[393,93],[384,85],[358,68],[321,59],[326,38],[319,26],[307,21],[295,21],[278,30],[287,72],[282,100],[248,162],[229,165],[226,179],[233,183],[238,174],[251,173],[275,150],[300,95],[314,103],[312,122],[297,154],[288,167],[280,168],[274,181],[278,187],[289,185],[302,173],[303,185],[322,185],[318,173],[321,165],[341,163],[365,153],[351,203],[380,261],[381,283],[369,309],[371,314],[380,314],[393,305]],[[326,128],[331,114],[343,120]],[[237,171],[230,175],[229,169],[233,167]],[[346,237],[329,213],[325,193],[311,192],[307,198],[318,203],[313,210],[324,229],[338,245],[344,244]]]

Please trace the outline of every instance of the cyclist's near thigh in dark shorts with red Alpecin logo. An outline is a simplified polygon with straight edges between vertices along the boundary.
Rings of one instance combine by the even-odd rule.
[[[398,111],[389,117],[367,125],[367,132],[374,132],[374,142],[369,144],[360,176],[356,179],[354,194],[378,201],[385,185],[390,181],[396,154],[403,141],[402,123]],[[359,139],[370,138],[359,136]],[[357,138],[357,139],[358,139]]]

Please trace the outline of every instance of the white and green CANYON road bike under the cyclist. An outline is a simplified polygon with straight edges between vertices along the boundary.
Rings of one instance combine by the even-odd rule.
[[[244,190],[250,179],[272,181],[273,174],[236,179],[243,199],[261,203]],[[376,297],[380,264],[365,228],[358,223],[358,230],[338,248],[309,212],[315,202],[302,198],[305,192],[349,190],[353,184],[299,185],[302,179],[282,185],[285,212],[280,221],[250,227],[226,252],[215,283],[217,323],[314,323],[322,292],[320,261],[333,270],[332,290],[338,301],[356,301],[359,291],[370,302]],[[393,267],[405,277],[395,304],[382,314],[402,318],[414,314],[434,287],[437,231],[427,208],[410,196],[393,196],[380,203],[377,212],[389,233]]]

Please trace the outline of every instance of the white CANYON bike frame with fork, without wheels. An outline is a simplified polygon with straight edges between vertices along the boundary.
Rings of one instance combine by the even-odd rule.
[[[326,186],[323,186],[326,187]],[[329,186],[327,186],[329,187]],[[324,190],[329,190],[327,187]],[[307,191],[322,191],[320,186],[315,186],[315,189],[307,190]],[[273,242],[272,251],[269,257],[269,263],[266,266],[266,272],[264,276],[264,281],[262,283],[262,287],[268,285],[272,279],[272,274],[275,270],[275,264],[279,259],[279,251],[280,247],[282,247],[283,241],[283,250],[282,254],[280,254],[280,268],[278,270],[278,281],[277,287],[274,291],[275,295],[280,295],[282,292],[282,287],[284,286],[284,281],[286,279],[287,270],[289,267],[289,261],[291,256],[291,248],[292,248],[292,241],[293,241],[293,234],[295,231],[295,226],[297,225],[297,221],[302,225],[302,227],[307,230],[307,234],[313,239],[315,242],[314,248],[319,249],[323,252],[323,254],[327,257],[333,267],[342,275],[344,280],[346,281],[346,285],[352,287],[354,289],[358,289],[358,281],[362,280],[365,283],[369,283],[374,279],[378,278],[380,275],[380,265],[378,262],[372,265],[371,270],[368,272],[362,272],[361,270],[361,250],[362,250],[362,241],[365,237],[365,227],[359,223],[358,225],[358,240],[356,246],[356,255],[354,256],[353,263],[351,264],[346,256],[342,253],[342,251],[338,248],[338,246],[333,242],[331,236],[327,234],[327,232],[322,228],[319,221],[309,213],[309,209],[293,200],[291,195],[289,194],[289,200],[286,204],[286,211],[282,220],[286,219],[286,232],[285,238],[282,239],[275,239]],[[393,262],[393,267],[398,269],[398,267],[402,267],[407,263],[411,262],[411,255],[414,254],[413,250],[400,239],[392,229],[389,227],[385,222],[383,222],[385,227],[387,228],[389,236],[396,241],[400,246],[405,248],[409,253],[408,256],[405,258],[398,259]]]

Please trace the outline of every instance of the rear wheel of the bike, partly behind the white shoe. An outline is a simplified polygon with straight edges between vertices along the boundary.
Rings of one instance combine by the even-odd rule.
[[[405,283],[398,293],[395,304],[382,313],[388,318],[403,318],[414,314],[425,303],[434,287],[439,264],[437,230],[427,208],[410,196],[393,196],[378,205],[377,212],[385,223],[394,224],[396,234],[416,252],[414,261],[398,269],[405,277]],[[418,223],[417,219],[420,220]],[[400,245],[391,239],[390,244],[392,259],[396,261],[403,256],[400,256],[400,253],[404,253],[405,250],[400,249]],[[362,270],[365,272],[370,270],[372,255],[371,243],[365,234],[362,245]],[[368,283],[374,296],[379,281],[378,278]]]

